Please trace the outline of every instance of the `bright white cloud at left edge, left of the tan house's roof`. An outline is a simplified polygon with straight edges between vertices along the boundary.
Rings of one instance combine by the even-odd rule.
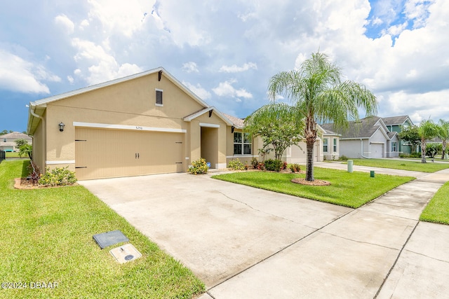
[[[0,88],[27,93],[50,93],[42,81],[58,82],[60,78],[39,64],[0,49]]]

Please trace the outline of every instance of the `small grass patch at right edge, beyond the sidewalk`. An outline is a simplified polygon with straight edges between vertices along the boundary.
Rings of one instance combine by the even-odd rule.
[[[422,211],[420,221],[449,225],[449,182],[445,183]]]

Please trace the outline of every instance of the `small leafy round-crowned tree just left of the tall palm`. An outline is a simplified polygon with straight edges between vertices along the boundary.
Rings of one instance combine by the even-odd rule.
[[[293,114],[288,116],[282,113],[285,106],[283,103],[262,106],[245,119],[243,128],[251,135],[262,138],[262,151],[267,151],[267,146],[271,145],[276,160],[281,160],[288,146],[300,143],[304,131],[304,122],[297,121]]]

